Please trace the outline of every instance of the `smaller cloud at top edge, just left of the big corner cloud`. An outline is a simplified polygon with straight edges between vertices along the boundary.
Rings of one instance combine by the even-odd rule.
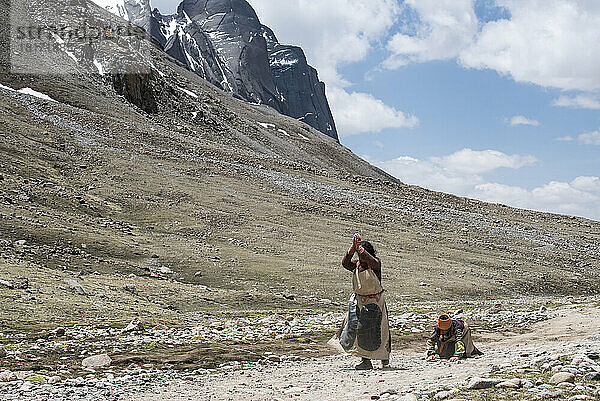
[[[397,33],[387,44],[391,56],[383,66],[395,69],[411,62],[455,58],[477,34],[472,0],[406,0],[420,24],[415,35]]]

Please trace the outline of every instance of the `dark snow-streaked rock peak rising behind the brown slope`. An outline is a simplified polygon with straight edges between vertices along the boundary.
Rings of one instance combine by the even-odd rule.
[[[138,9],[131,14],[143,20]],[[145,21],[169,55],[217,87],[338,139],[317,71],[301,48],[281,45],[245,0],[183,0],[176,14],[155,9]]]

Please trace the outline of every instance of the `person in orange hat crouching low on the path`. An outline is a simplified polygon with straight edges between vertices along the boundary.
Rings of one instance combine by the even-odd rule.
[[[451,319],[448,314],[441,315],[427,340],[427,360],[439,357],[456,362],[474,355],[482,353],[473,344],[471,328],[462,320]]]

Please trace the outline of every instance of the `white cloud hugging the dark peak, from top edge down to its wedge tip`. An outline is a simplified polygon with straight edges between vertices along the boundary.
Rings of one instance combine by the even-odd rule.
[[[327,98],[340,136],[413,127],[418,119],[367,93],[347,90],[338,73],[365,59],[394,24],[397,0],[249,0],[261,22],[282,43],[302,47],[327,84]]]

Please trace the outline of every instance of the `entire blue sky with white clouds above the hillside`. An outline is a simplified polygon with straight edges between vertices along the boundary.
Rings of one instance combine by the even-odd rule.
[[[249,2],[303,47],[356,154],[409,184],[600,220],[600,3]]]

